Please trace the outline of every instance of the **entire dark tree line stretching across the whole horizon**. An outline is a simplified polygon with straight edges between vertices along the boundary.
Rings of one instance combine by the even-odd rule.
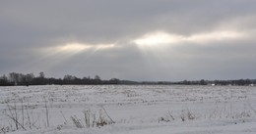
[[[236,80],[183,80],[171,81],[130,81],[111,78],[102,80],[98,75],[95,77],[79,78],[74,75],[66,74],[63,78],[45,77],[44,72],[39,72],[38,76],[33,73],[23,74],[11,72],[8,75],[0,76],[0,86],[16,85],[99,85],[99,84],[151,84],[151,85],[256,85],[256,79],[236,79]]]

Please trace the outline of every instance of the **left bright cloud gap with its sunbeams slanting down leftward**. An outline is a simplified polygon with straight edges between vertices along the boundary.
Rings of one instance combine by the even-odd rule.
[[[40,58],[23,65],[22,68],[35,70],[36,68],[43,67],[44,70],[50,70],[53,67],[71,61],[73,58],[75,59],[79,55],[83,55],[83,59],[80,59],[80,63],[85,64],[90,57],[96,55],[96,51],[105,51],[114,47],[115,44],[66,43],[65,45],[33,49],[32,52],[39,55]],[[72,67],[76,68],[80,63],[72,65]]]

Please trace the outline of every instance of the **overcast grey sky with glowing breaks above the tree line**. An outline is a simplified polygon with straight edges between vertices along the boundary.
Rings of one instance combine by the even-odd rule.
[[[0,75],[256,78],[255,0],[0,1]]]

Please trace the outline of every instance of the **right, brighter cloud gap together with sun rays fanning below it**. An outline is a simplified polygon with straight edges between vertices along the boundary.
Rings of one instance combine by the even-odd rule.
[[[212,45],[213,42],[233,41],[243,39],[245,33],[236,30],[214,30],[209,32],[199,32],[190,35],[168,33],[165,31],[155,31],[142,35],[131,40],[141,51],[148,67],[167,67],[173,57],[175,57],[175,47],[178,45]],[[153,63],[154,61],[154,63]],[[156,62],[158,64],[156,64]]]

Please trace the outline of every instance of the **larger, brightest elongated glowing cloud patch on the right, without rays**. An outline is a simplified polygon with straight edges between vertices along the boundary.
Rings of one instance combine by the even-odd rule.
[[[182,42],[204,44],[204,43],[209,43],[214,41],[239,39],[244,36],[245,36],[245,33],[243,32],[229,31],[229,30],[196,33],[190,36],[157,31],[157,32],[147,33],[142,37],[133,40],[132,42],[140,46],[170,45],[170,44],[182,43]]]

